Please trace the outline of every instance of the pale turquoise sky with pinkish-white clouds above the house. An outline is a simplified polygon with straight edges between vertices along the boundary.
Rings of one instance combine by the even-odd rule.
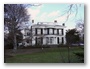
[[[28,14],[30,14],[30,20],[34,20],[35,23],[54,22],[54,20],[57,20],[58,24],[65,23],[67,29],[72,29],[75,28],[77,20],[84,20],[84,4],[77,4],[77,6],[72,8],[68,21],[66,21],[67,14],[65,13],[69,9],[70,4],[46,3],[33,5],[28,8]],[[76,16],[75,7],[78,7]]]

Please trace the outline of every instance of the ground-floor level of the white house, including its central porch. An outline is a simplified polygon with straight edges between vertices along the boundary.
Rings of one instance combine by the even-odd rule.
[[[35,38],[34,45],[59,45],[65,44],[64,37],[44,37]]]

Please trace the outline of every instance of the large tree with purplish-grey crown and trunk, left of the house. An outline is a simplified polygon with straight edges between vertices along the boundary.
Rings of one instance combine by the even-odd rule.
[[[12,35],[14,50],[17,49],[17,35],[22,23],[29,21],[26,5],[23,4],[4,4],[4,26],[8,27]],[[23,26],[22,26],[23,27]]]

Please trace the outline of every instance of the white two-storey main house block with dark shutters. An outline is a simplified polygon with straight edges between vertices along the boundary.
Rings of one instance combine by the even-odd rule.
[[[65,24],[55,22],[38,22],[31,26],[32,45],[66,44]]]

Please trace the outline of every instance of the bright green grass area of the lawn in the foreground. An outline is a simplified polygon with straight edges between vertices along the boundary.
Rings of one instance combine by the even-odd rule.
[[[70,48],[70,63],[80,63],[74,52],[84,51],[78,47]],[[16,54],[14,57],[6,58],[6,63],[68,63],[68,48],[46,48],[37,53]]]

